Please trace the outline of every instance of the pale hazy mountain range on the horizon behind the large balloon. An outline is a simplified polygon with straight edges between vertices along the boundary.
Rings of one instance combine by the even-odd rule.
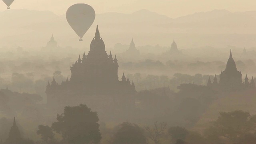
[[[40,46],[47,42],[52,33],[61,45],[71,45],[78,40],[78,36],[66,22],[65,15],[58,16],[49,11],[23,9],[0,12],[0,18],[0,45],[6,46],[12,43]],[[132,36],[140,39],[138,42],[141,45],[167,44],[163,39],[167,38],[166,36],[171,40],[172,38],[180,39],[184,34],[190,36],[192,34],[254,35],[256,34],[256,11],[212,10],[174,19],[149,10],[139,10],[132,14],[114,12],[96,14],[92,28],[85,35],[85,42],[90,42],[92,39],[96,24],[99,24],[104,40],[108,40],[111,46],[118,42],[128,43]],[[28,42],[30,44],[27,44]]]

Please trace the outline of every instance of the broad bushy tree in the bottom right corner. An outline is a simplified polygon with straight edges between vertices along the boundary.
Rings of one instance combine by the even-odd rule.
[[[236,143],[255,132],[255,128],[256,115],[250,116],[250,113],[241,110],[220,112],[218,119],[205,130],[205,135],[209,140],[222,137]]]

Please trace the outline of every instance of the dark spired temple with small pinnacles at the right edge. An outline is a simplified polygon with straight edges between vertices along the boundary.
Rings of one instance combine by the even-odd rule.
[[[252,80],[249,82],[247,74],[245,76],[244,82],[242,82],[241,70],[238,71],[236,69],[236,62],[234,61],[232,51],[230,50],[226,69],[224,71],[221,70],[219,83],[217,76],[215,75],[213,82],[211,82],[209,77],[207,86],[218,90],[234,91],[244,88],[255,88],[255,83],[253,77]]]

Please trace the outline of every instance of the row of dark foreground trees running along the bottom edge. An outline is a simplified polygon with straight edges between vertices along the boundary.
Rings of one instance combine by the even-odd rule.
[[[36,144],[253,144],[256,140],[256,115],[240,110],[220,112],[201,132],[168,122],[108,126],[99,120],[97,112],[84,104],[66,106],[51,126],[38,126],[41,140]]]

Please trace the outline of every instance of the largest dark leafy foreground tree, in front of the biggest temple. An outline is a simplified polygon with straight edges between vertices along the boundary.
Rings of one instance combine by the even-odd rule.
[[[63,114],[57,115],[52,129],[62,134],[64,142],[69,144],[98,144],[101,134],[97,112],[92,112],[85,104],[66,106]]]

